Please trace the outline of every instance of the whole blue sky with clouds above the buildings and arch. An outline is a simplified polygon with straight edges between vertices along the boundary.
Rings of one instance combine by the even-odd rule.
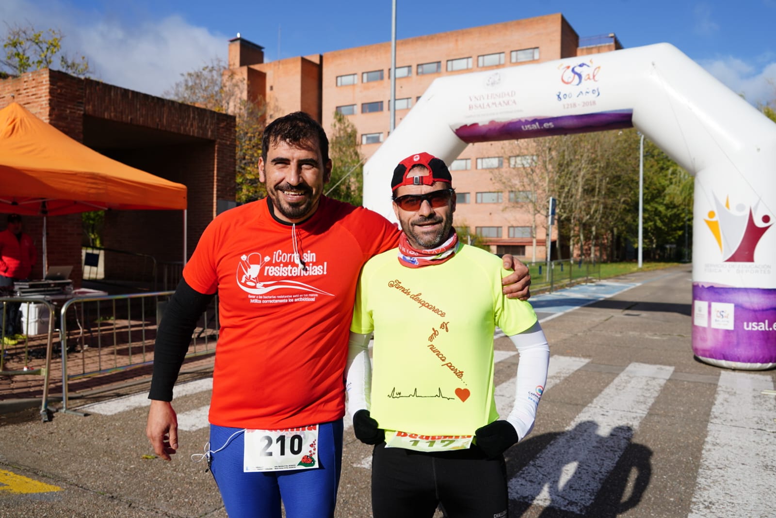
[[[203,2],[0,0],[0,20],[56,27],[97,78],[160,95],[180,74],[241,36],[265,57],[293,57],[390,41],[391,1]],[[615,33],[626,48],[668,42],[753,104],[776,99],[776,0],[397,0],[407,38],[561,12],[580,37]],[[0,25],[0,33],[5,26]],[[2,50],[2,49],[0,49]]]

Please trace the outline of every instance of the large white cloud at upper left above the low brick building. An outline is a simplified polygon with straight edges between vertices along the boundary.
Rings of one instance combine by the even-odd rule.
[[[64,34],[68,56],[85,55],[95,78],[111,85],[161,95],[180,74],[226,57],[229,38],[192,26],[181,16],[128,22],[119,16],[81,11],[57,0],[2,0],[0,19]],[[5,27],[0,27],[5,33]]]

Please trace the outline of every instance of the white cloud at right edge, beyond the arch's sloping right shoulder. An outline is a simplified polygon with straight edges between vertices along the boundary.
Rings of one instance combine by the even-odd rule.
[[[752,105],[776,101],[776,61],[754,67],[736,57],[721,57],[699,64]]]

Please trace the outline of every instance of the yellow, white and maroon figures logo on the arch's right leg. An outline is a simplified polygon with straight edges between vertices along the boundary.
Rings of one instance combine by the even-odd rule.
[[[773,225],[773,218],[770,214],[760,215],[759,201],[753,207],[738,203],[733,209],[730,208],[729,196],[724,204],[716,196],[714,202],[716,210],[708,211],[708,219],[704,221],[719,245],[722,260],[753,263],[757,243]]]

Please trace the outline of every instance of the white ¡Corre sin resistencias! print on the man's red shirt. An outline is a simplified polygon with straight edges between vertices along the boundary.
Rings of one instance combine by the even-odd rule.
[[[310,275],[327,275],[327,269],[327,261],[318,264],[316,254],[310,250],[301,255],[288,254],[282,250],[275,250],[271,255],[251,252],[240,256],[237,264],[237,285],[244,292],[254,295],[264,295],[281,288],[288,288],[292,292],[331,295],[329,292],[295,280],[295,278],[306,278]]]

